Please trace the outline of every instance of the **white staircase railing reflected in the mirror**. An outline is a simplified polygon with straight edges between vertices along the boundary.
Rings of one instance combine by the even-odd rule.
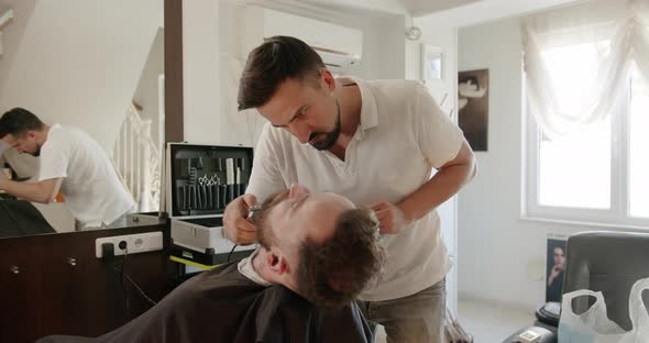
[[[116,140],[111,159],[138,212],[157,211],[161,192],[161,152],[151,139],[151,120],[142,120],[133,104]]]

